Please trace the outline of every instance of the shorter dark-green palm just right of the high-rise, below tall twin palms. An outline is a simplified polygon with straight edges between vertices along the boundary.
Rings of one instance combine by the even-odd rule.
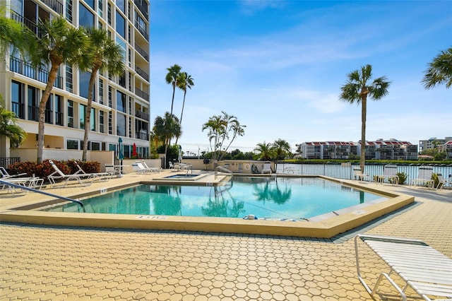
[[[165,143],[165,166],[167,164],[167,151],[169,141],[182,134],[181,124],[174,114],[165,113],[165,117],[155,117],[153,132],[158,140]]]

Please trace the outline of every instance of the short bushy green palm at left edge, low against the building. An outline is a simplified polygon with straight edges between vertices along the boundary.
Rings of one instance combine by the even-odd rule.
[[[12,147],[22,144],[27,136],[27,133],[18,126],[16,121],[16,114],[5,110],[5,102],[0,95],[0,136],[9,138]]]

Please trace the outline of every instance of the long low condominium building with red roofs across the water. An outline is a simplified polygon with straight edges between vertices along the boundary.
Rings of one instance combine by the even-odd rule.
[[[305,159],[349,159],[351,155],[361,155],[361,142],[322,141],[304,142],[301,146]],[[417,160],[417,145],[408,141],[389,139],[366,141],[367,160]]]

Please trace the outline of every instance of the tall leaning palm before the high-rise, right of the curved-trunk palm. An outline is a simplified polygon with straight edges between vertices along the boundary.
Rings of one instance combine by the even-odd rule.
[[[88,84],[88,104],[85,112],[85,136],[83,136],[82,160],[86,161],[88,151],[88,134],[90,132],[91,106],[93,105],[93,87],[97,71],[108,71],[109,76],[124,73],[124,57],[122,48],[114,42],[106,30],[88,28],[85,30],[90,40],[90,50],[87,61],[79,64],[81,70],[91,70],[90,82]]]

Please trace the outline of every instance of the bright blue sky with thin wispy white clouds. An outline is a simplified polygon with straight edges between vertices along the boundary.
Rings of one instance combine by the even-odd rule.
[[[339,100],[347,73],[371,64],[391,81],[367,106],[368,141],[452,136],[452,89],[425,90],[427,65],[452,47],[452,1],[162,1],[150,3],[151,126],[171,110],[167,68],[194,78],[179,143],[209,147],[222,111],[246,125],[230,151],[285,139],[358,141],[361,107]],[[183,93],[176,90],[180,117]]]

